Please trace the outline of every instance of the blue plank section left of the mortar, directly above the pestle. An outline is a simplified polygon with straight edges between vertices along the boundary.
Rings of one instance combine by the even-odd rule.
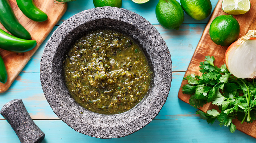
[[[13,99],[22,99],[32,119],[59,119],[46,101],[39,73],[19,74],[11,87],[0,93],[0,108]]]

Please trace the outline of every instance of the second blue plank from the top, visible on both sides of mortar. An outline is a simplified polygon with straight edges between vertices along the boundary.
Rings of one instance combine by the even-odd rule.
[[[165,40],[171,56],[173,71],[186,71],[206,24],[182,24],[180,30],[167,30],[154,25]],[[39,73],[40,59],[45,44],[57,26],[53,28],[21,73]],[[207,56],[207,55],[205,55]]]

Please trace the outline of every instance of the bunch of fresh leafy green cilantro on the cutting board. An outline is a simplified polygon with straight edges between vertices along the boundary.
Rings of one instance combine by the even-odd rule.
[[[214,65],[214,57],[206,56],[204,62],[200,62],[201,76],[188,75],[183,80],[189,84],[182,87],[184,94],[190,94],[189,103],[199,108],[207,102],[217,105],[219,110],[208,110],[207,113],[197,111],[201,118],[208,123],[214,123],[217,119],[220,126],[228,126],[233,133],[236,126],[233,119],[250,123],[256,119],[256,86],[254,79],[247,81],[236,78],[227,70],[226,64],[220,68]]]

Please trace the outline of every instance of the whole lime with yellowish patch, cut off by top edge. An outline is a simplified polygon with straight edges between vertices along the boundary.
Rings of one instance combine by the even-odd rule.
[[[181,0],[181,6],[190,17],[196,20],[207,18],[212,11],[210,0]]]

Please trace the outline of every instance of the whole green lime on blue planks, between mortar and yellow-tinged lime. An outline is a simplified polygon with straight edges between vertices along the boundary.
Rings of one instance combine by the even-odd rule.
[[[178,30],[184,21],[184,11],[176,0],[159,0],[156,17],[164,28]]]

